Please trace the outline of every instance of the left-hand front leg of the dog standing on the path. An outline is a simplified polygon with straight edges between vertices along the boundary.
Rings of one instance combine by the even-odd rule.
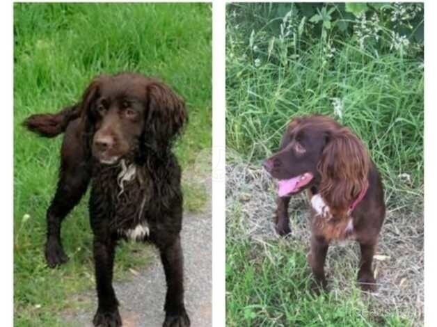
[[[116,292],[112,287],[112,273],[115,255],[115,239],[94,238],[95,281],[97,286],[98,308],[94,316],[94,326],[122,326]]]

